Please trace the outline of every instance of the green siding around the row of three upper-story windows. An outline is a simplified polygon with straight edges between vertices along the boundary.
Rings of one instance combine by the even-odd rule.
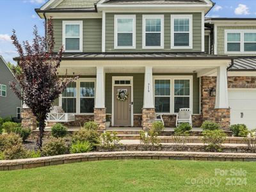
[[[201,13],[127,13],[136,15],[136,49],[114,49],[114,22],[116,13],[106,13],[106,51],[202,51]],[[142,49],[142,15],[164,15],[164,49]],[[193,15],[193,49],[170,49],[171,15]],[[118,13],[118,15],[120,15]]]

